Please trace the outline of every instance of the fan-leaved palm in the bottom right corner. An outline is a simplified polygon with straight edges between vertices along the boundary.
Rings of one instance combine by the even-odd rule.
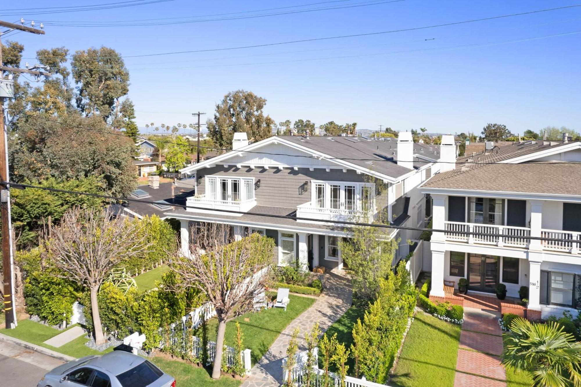
[[[515,371],[532,374],[535,386],[581,386],[581,342],[563,331],[557,322],[535,324],[524,318],[512,320],[505,337],[501,363]]]

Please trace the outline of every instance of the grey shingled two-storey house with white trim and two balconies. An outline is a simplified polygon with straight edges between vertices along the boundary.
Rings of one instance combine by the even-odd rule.
[[[236,238],[260,232],[274,239],[279,266],[298,262],[311,269],[343,267],[339,241],[351,231],[332,221],[382,213],[393,224],[421,227],[426,201],[417,186],[439,169],[440,158],[456,159],[453,142],[414,144],[410,132],[401,132],[399,141],[275,136],[250,145],[245,133],[235,133],[232,149],[180,171],[195,179],[195,195],[187,198],[189,208],[166,215],[181,221],[182,253],[189,253],[191,227],[222,223]],[[419,234],[389,230],[401,238],[394,261]]]

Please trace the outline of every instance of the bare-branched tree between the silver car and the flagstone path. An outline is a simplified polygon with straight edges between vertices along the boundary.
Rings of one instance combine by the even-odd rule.
[[[182,285],[199,289],[216,309],[218,335],[212,378],[220,378],[226,322],[252,310],[264,292],[271,270],[272,239],[252,234],[234,241],[227,225],[206,224],[192,230],[190,256],[178,256],[173,267]]]

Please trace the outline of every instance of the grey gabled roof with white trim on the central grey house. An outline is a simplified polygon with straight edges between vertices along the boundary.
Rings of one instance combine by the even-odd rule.
[[[245,151],[260,153],[260,148],[269,144],[283,144],[289,146],[290,149],[303,152],[304,156],[294,156],[297,159],[304,157],[302,164],[309,164],[309,160],[327,160],[346,169],[354,169],[390,182],[399,181],[400,177],[413,172],[413,170],[397,165],[397,139],[369,140],[357,137],[319,136],[309,138],[303,136],[270,137],[186,167],[180,172],[191,173],[211,164],[227,162],[228,159],[242,155]],[[414,144],[414,167],[418,169],[426,166],[428,163],[425,160],[439,159],[439,150],[438,145]],[[257,166],[260,165],[257,164]]]

